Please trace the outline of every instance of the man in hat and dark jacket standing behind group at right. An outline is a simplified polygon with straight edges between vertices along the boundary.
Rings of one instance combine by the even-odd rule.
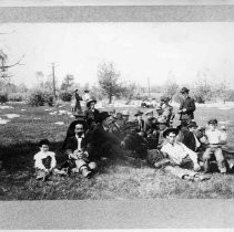
[[[182,101],[177,110],[180,114],[180,120],[185,120],[187,124],[194,119],[194,112],[196,109],[195,101],[190,97],[189,92],[189,88],[182,87],[180,92],[182,94]]]

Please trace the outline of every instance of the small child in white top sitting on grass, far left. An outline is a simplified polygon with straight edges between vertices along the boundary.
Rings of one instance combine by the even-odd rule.
[[[34,155],[34,168],[37,173],[37,180],[45,181],[52,173],[67,175],[64,170],[57,169],[55,154],[49,151],[50,141],[48,139],[41,139],[39,141],[40,151]]]

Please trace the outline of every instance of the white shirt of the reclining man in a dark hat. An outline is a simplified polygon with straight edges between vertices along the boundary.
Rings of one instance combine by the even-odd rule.
[[[182,159],[185,158],[187,155],[196,156],[193,150],[189,149],[180,141],[175,141],[174,145],[165,143],[161,148],[161,151],[167,154],[169,158],[177,165],[180,165],[182,162]]]

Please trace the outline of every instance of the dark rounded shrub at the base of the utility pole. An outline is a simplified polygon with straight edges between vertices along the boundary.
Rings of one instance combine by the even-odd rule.
[[[49,92],[44,92],[41,89],[35,89],[31,92],[27,99],[28,104],[31,106],[43,106],[48,104],[49,106],[53,106],[54,99],[53,95]]]

